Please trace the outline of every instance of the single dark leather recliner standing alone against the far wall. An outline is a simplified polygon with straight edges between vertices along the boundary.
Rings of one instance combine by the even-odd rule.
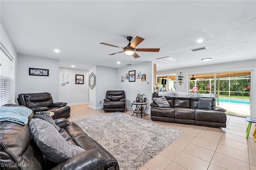
[[[110,90],[106,92],[106,99],[104,99],[105,112],[124,112],[125,110],[125,93],[123,90]]]

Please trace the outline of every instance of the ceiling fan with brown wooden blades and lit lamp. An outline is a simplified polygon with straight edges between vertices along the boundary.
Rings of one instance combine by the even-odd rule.
[[[129,43],[126,47],[118,47],[116,45],[111,45],[111,44],[108,44],[108,43],[100,43],[100,44],[109,45],[109,46],[112,46],[112,47],[117,47],[117,48],[124,49],[124,51],[119,51],[117,53],[112,53],[112,54],[109,54],[109,55],[115,55],[115,54],[124,52],[127,55],[132,55],[134,58],[140,57],[138,54],[135,53],[135,51],[158,52],[160,50],[160,48],[135,48],[137,45],[139,45],[144,40],[144,38],[141,38],[141,37],[138,37],[138,36],[136,36],[134,38],[132,43],[131,43],[131,41],[132,41],[131,36],[128,36],[127,40],[129,41]]]

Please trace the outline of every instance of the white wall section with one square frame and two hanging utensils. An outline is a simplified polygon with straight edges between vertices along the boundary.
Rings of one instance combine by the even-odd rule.
[[[63,83],[64,73],[64,83]],[[76,74],[84,75],[84,84],[76,84]],[[67,76],[68,82],[67,83]],[[59,72],[59,101],[68,105],[82,105],[89,103],[89,70],[70,69],[60,67]]]

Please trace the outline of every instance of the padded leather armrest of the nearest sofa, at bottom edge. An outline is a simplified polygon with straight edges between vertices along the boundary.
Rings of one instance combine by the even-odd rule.
[[[96,170],[106,165],[108,158],[99,150],[91,149],[82,152],[58,164],[52,170]]]

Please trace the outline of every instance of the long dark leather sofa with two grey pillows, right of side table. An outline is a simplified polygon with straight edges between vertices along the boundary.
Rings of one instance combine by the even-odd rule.
[[[152,98],[158,96],[153,93]],[[170,107],[158,107],[155,102],[151,106],[151,119],[162,122],[185,123],[192,125],[203,125],[209,127],[226,127],[226,110],[216,107],[216,101],[212,100],[211,109],[197,109],[198,97],[168,97],[166,100]]]

